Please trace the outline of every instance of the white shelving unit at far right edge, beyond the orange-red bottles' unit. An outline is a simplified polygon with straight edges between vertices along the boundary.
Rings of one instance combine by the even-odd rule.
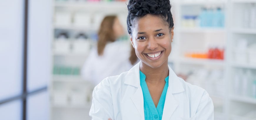
[[[248,48],[256,44],[256,0],[232,0],[230,2],[229,14],[232,23],[229,27],[230,39],[228,39],[230,43],[228,54],[229,61],[231,61],[228,78],[230,85],[229,119],[255,120],[256,63],[252,62],[252,59],[256,57],[256,49],[250,52]]]

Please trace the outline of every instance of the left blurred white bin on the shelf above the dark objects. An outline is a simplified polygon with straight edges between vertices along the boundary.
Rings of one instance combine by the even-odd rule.
[[[65,12],[56,12],[55,14],[55,25],[57,26],[69,26],[71,25],[71,14]]]

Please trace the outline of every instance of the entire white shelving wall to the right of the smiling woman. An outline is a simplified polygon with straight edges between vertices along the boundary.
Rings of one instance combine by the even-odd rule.
[[[256,56],[255,52],[252,54],[237,52],[237,44],[241,43],[239,41],[246,40],[241,44],[247,43],[248,46],[256,43],[256,25],[254,27],[250,26],[256,24],[256,19],[249,18],[249,12],[251,6],[256,5],[255,0],[227,0],[227,1],[211,1],[211,0],[180,0],[172,1],[173,13],[174,13],[174,42],[172,46],[172,53],[169,58],[169,62],[172,64],[174,71],[176,73],[191,74],[191,71],[197,70],[197,68],[203,68],[204,71],[207,69],[221,69],[223,72],[221,80],[201,80],[202,76],[193,76],[195,79],[193,84],[199,85],[205,88],[213,99],[215,105],[215,119],[216,120],[254,120],[256,118],[256,96],[252,93],[247,93],[249,91],[253,92],[252,81],[256,78],[256,63],[250,63],[250,59],[254,59]],[[201,6],[220,6],[225,11],[225,27],[224,28],[184,28],[182,25],[182,15],[184,14],[196,14],[198,8]],[[256,8],[255,8],[256,10]],[[188,12],[187,12],[188,11]],[[252,12],[252,11],[250,11]],[[256,12],[256,11],[255,11]],[[248,14],[248,15],[247,15]],[[256,14],[256,13],[255,13]],[[250,23],[248,20],[250,19]],[[245,25],[247,24],[247,25]],[[195,35],[197,34],[197,35]],[[221,36],[215,39],[212,35]],[[197,36],[201,36],[200,38]],[[201,40],[201,41],[199,41]],[[216,40],[223,40],[223,42],[215,42]],[[191,42],[192,41],[192,42]],[[200,46],[205,46],[205,44],[215,44],[215,46],[220,45],[225,48],[224,60],[212,60],[212,59],[196,59],[184,57],[184,51],[189,49],[195,49]],[[191,47],[191,46],[194,46]],[[235,49],[236,48],[236,49]],[[189,50],[188,50],[189,51]],[[256,51],[256,50],[255,50]],[[242,56],[239,56],[241,55]],[[254,55],[255,54],[255,55]],[[246,59],[239,59],[246,58]],[[237,61],[239,59],[240,61]],[[241,61],[242,60],[242,61]],[[255,60],[254,60],[255,61]],[[190,69],[190,70],[189,70]],[[240,81],[237,82],[234,78],[238,71],[242,71],[242,76]],[[245,71],[250,71],[252,76],[245,75]],[[204,72],[201,71],[202,74]],[[240,76],[241,77],[241,76]],[[211,78],[209,76],[209,78]],[[245,79],[246,78],[246,79]],[[242,80],[241,80],[242,79]],[[212,81],[218,81],[217,85],[213,84]],[[246,81],[246,82],[245,82]],[[189,80],[188,80],[189,82]],[[206,85],[205,82],[211,85]],[[236,85],[237,86],[236,86]],[[248,85],[248,87],[246,86]],[[214,87],[215,86],[215,87]],[[238,88],[235,88],[238,87]],[[240,87],[240,88],[239,88]],[[243,91],[243,88],[248,88],[247,95],[242,95],[242,93],[236,93],[235,89],[238,91]],[[212,91],[213,90],[213,91]],[[217,91],[217,92],[216,92]],[[254,90],[254,92],[256,92]],[[217,94],[216,94],[217,93]],[[220,94],[222,93],[222,94]]]

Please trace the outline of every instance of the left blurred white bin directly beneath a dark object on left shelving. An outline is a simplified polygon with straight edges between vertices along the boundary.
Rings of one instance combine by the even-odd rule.
[[[67,54],[70,52],[70,41],[66,39],[58,39],[54,42],[54,53]]]

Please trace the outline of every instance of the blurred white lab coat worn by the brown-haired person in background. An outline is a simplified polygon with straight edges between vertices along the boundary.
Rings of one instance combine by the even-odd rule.
[[[131,69],[130,44],[129,41],[109,42],[102,56],[98,55],[97,47],[93,48],[82,67],[82,78],[96,86],[108,76],[116,76]]]

